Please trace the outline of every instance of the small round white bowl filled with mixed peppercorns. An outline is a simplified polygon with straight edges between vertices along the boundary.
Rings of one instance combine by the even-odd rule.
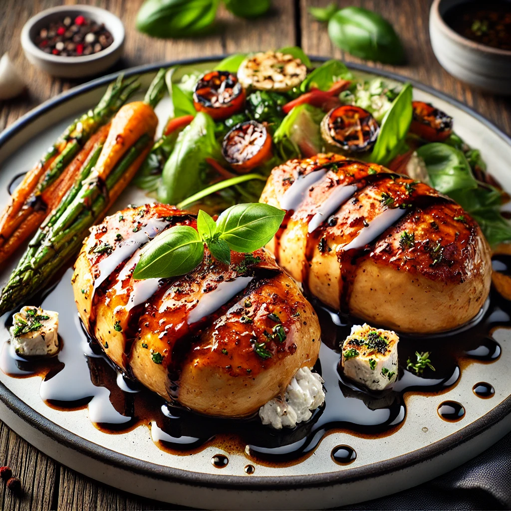
[[[76,5],[47,9],[21,30],[27,59],[62,78],[97,75],[117,62],[124,45],[124,26],[112,13]]]

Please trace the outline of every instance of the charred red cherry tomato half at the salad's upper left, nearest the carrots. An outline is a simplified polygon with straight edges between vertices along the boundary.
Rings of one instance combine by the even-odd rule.
[[[236,75],[212,71],[195,85],[193,104],[198,112],[206,112],[215,121],[223,121],[243,109],[245,91]]]

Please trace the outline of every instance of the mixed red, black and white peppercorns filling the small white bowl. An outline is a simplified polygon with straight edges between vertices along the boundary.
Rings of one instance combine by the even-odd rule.
[[[39,30],[34,43],[45,53],[61,57],[81,57],[108,48],[112,34],[103,24],[79,15],[64,17]]]

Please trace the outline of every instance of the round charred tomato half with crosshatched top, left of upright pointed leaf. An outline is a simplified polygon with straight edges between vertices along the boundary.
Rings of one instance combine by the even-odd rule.
[[[358,106],[334,108],[321,121],[324,141],[349,153],[369,150],[374,146],[379,131],[373,115]]]

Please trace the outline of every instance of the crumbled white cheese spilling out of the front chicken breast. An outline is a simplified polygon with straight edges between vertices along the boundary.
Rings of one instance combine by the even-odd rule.
[[[277,396],[259,409],[261,421],[275,429],[294,428],[296,424],[308,421],[312,410],[324,403],[322,383],[323,379],[308,367],[298,369],[285,396]]]

